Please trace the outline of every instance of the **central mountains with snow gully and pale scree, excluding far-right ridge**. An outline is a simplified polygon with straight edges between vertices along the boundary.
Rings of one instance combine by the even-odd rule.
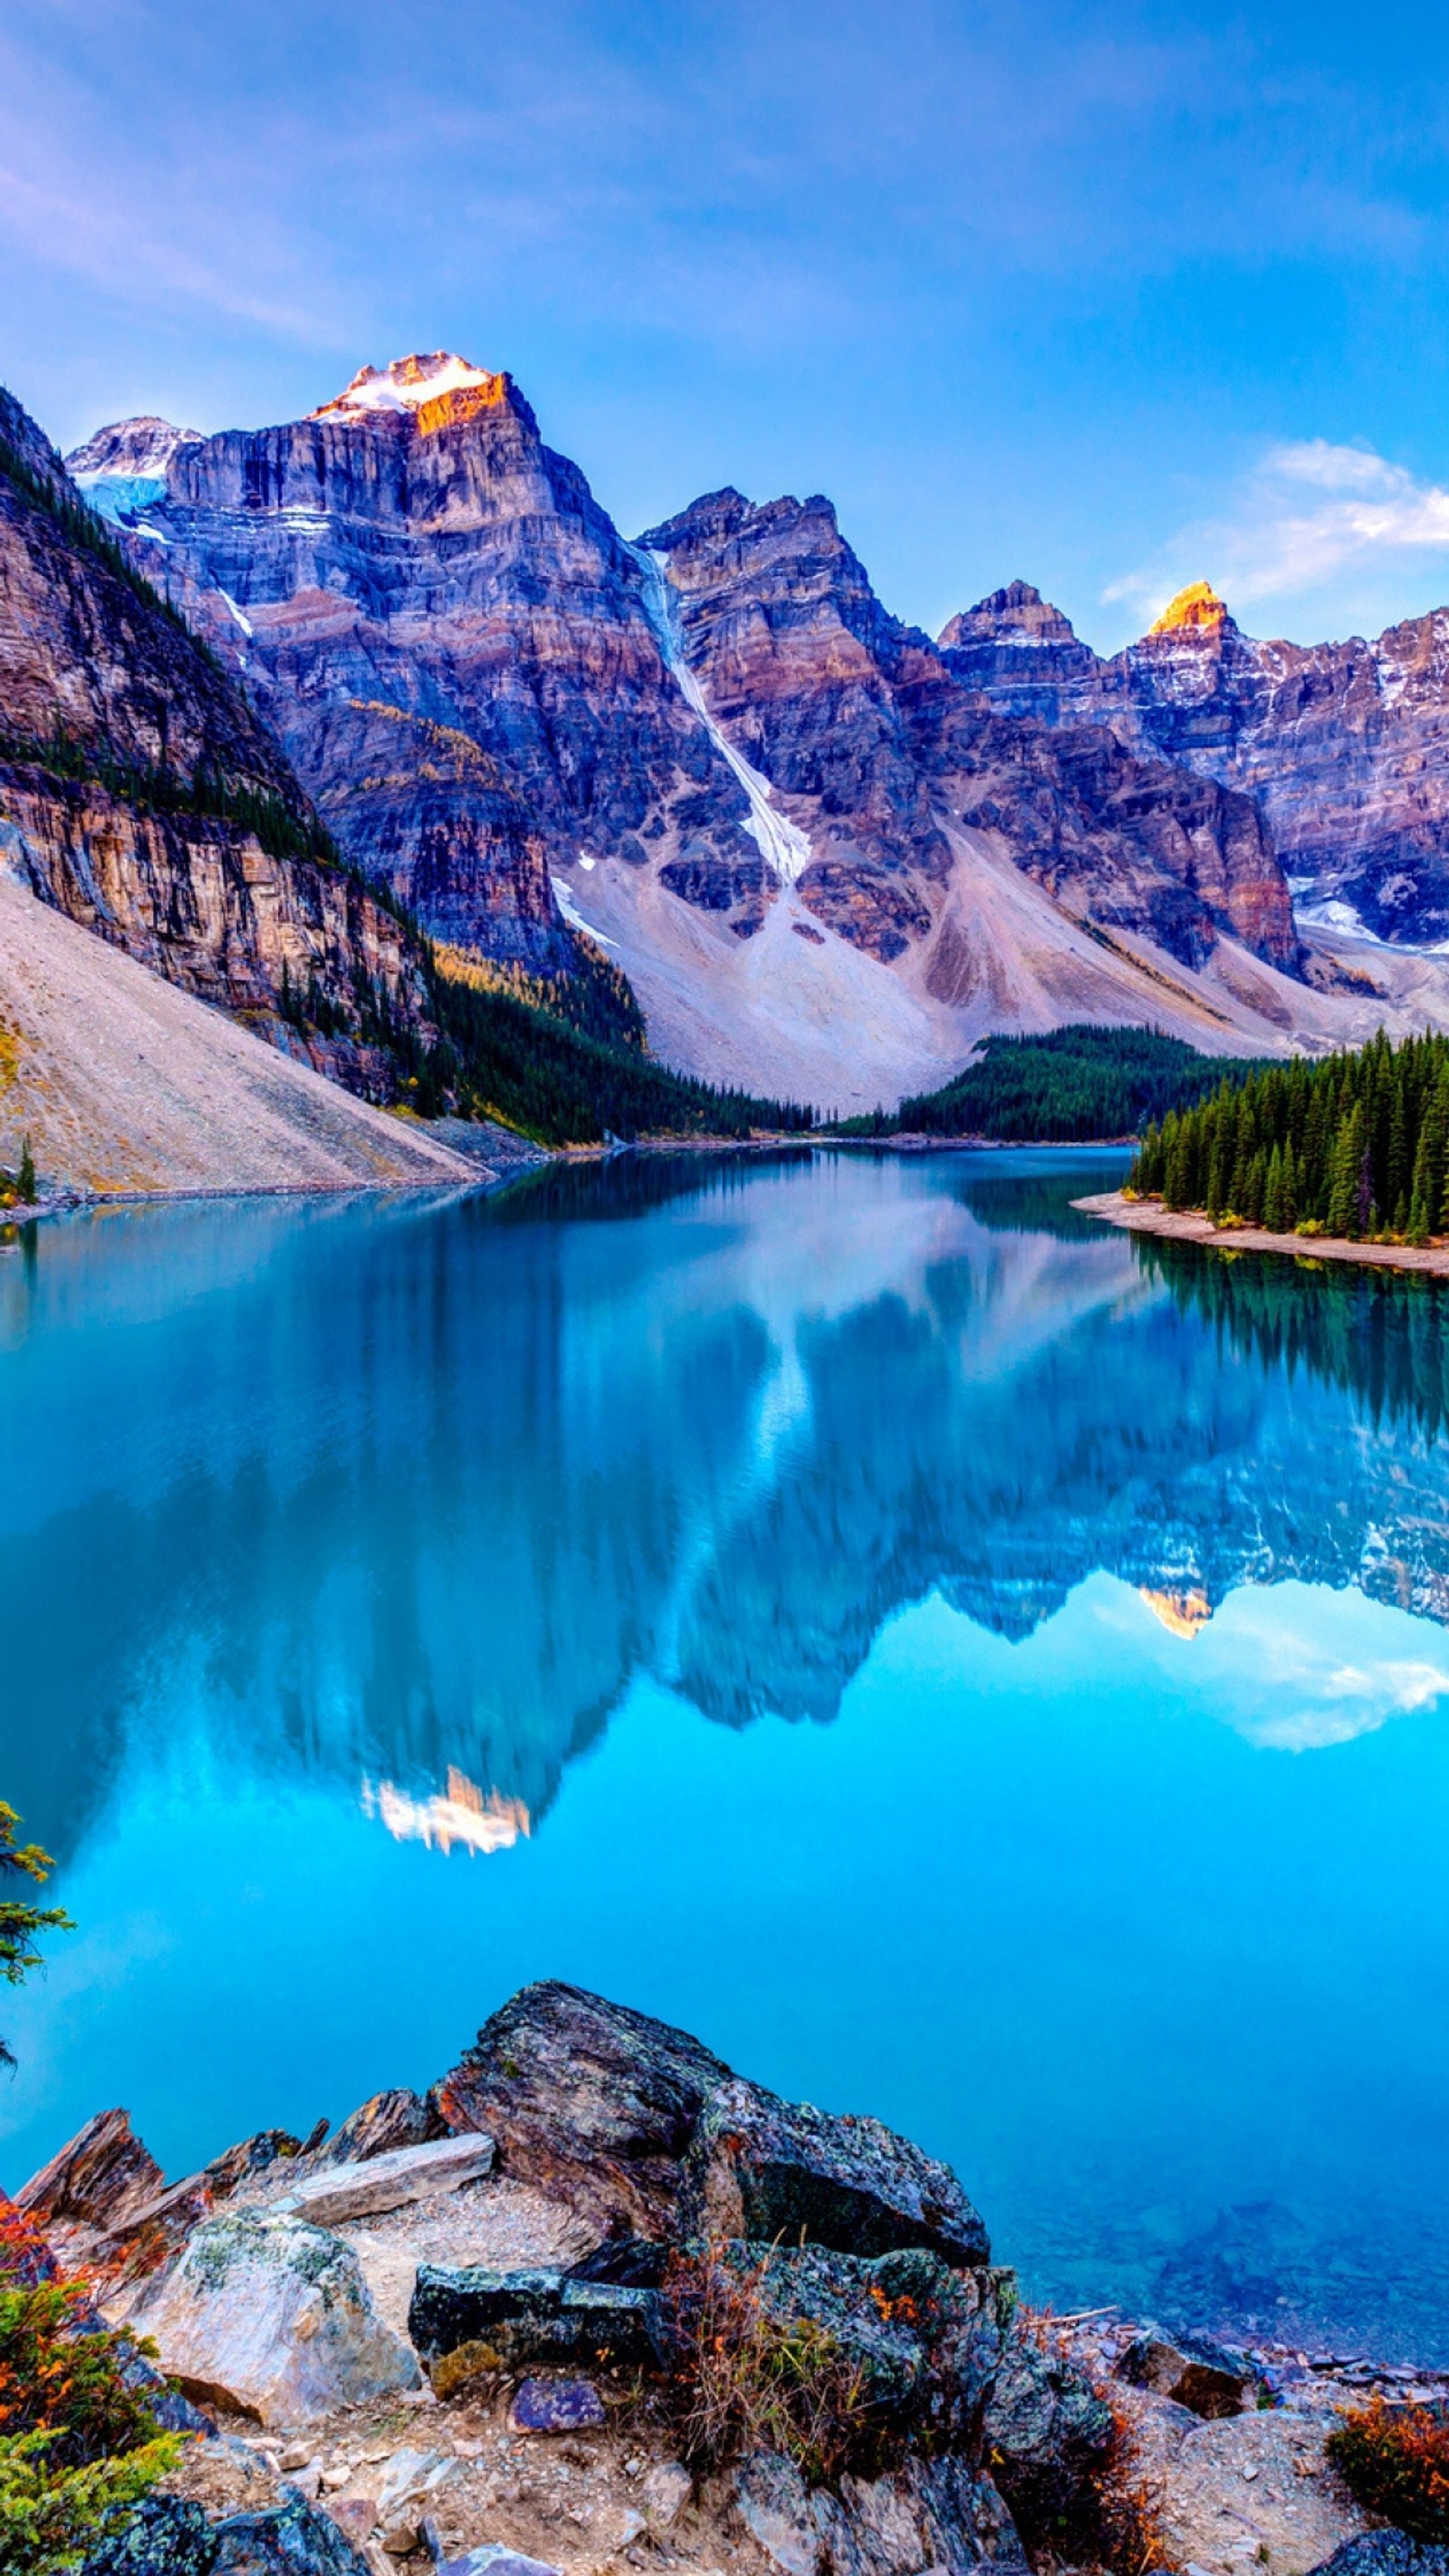
[[[1217,611],[1104,677],[1029,585],[939,644],[893,618],[824,495],[721,487],[628,544],[515,379],[448,350],[72,461],[373,881],[530,971],[589,930],[713,1082],[870,1110],[988,1028],[1243,1054],[1449,1007],[1431,958],[1295,922]]]

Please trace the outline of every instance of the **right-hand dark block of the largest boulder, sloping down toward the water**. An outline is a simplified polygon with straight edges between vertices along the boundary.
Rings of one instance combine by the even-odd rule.
[[[893,2254],[927,2246],[952,2264],[991,2262],[986,2226],[950,2164],[883,2120],[818,2112],[731,2079],[710,2092],[685,2159],[692,2236],[754,2236]]]

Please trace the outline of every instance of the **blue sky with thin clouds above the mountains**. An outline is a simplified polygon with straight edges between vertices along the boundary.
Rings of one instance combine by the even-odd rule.
[[[625,533],[824,489],[901,616],[1449,600],[1449,13],[8,0],[0,376],[62,443],[507,366]]]

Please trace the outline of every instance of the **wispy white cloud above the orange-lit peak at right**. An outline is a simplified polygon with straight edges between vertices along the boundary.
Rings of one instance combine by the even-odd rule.
[[[1436,554],[1449,554],[1446,484],[1421,482],[1372,448],[1297,438],[1264,451],[1220,518],[1181,528],[1104,598],[1150,618],[1184,582],[1207,577],[1233,608],[1251,608]]]

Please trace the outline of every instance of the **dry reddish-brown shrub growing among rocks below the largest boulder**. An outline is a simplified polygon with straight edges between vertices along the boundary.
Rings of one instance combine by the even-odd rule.
[[[682,2455],[708,2473],[741,2452],[775,2450],[821,2483],[860,2465],[872,2409],[826,2326],[770,2311],[767,2272],[770,2254],[731,2262],[718,2244],[669,2262],[664,2298],[679,2354],[669,2403]]]

